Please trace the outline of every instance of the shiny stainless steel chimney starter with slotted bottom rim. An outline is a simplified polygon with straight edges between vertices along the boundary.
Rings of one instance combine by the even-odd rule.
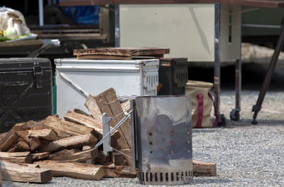
[[[190,183],[190,96],[136,97],[136,142],[140,183]]]

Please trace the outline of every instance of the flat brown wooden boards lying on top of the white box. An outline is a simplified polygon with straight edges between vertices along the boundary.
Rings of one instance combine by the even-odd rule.
[[[77,59],[131,60],[133,58],[163,58],[169,48],[87,48],[75,49]]]

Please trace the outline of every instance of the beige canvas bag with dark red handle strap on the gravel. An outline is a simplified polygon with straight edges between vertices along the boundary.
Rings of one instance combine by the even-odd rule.
[[[185,95],[192,98],[192,128],[215,127],[210,119],[213,101],[209,91],[213,87],[211,82],[188,80],[185,86]]]

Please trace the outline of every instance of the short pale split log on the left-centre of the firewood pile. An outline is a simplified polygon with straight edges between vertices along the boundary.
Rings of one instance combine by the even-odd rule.
[[[39,137],[40,140],[55,141],[58,134],[53,129],[28,130],[28,137]]]

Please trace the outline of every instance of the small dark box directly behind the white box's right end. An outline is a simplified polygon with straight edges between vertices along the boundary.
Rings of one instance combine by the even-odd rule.
[[[185,95],[187,58],[160,58],[158,95]]]

